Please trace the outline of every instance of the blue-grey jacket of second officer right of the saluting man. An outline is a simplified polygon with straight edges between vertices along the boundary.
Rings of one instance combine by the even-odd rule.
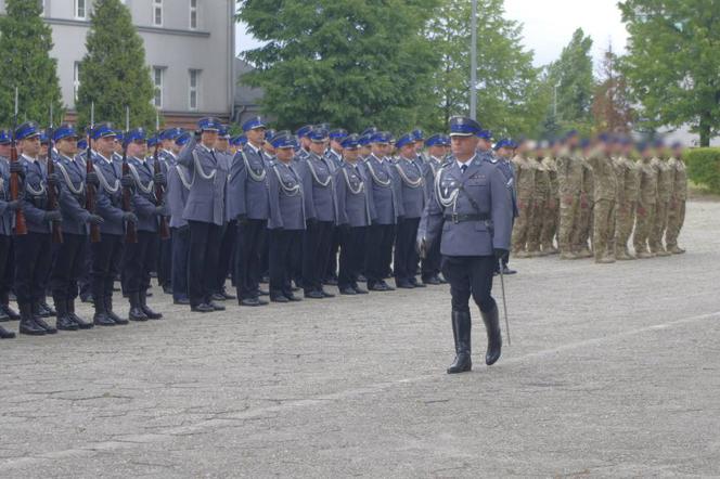
[[[303,177],[297,171],[297,163],[290,165],[273,161],[268,171],[270,187],[270,218],[268,228],[305,230],[306,210],[312,199],[306,195]]]

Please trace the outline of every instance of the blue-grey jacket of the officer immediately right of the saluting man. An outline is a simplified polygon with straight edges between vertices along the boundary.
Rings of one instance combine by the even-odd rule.
[[[250,144],[235,154],[228,179],[228,218],[240,215],[253,220],[267,220],[270,215],[267,164],[262,152]]]

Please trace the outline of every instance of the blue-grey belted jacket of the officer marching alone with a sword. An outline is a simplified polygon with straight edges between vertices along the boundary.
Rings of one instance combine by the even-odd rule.
[[[419,239],[424,238],[428,247],[440,241],[446,256],[491,256],[494,248],[510,249],[513,204],[505,176],[496,165],[475,156],[463,173],[453,160],[438,172],[436,186],[420,222]],[[488,219],[455,222],[445,218],[453,212]]]

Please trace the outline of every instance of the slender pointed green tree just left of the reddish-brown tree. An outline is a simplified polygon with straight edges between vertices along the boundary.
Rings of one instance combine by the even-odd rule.
[[[592,130],[591,107],[595,85],[591,48],[592,39],[578,28],[560,59],[548,66],[547,88],[552,91],[556,87],[557,93],[557,118],[554,122],[563,129],[573,128],[583,133]],[[549,111],[548,115],[552,112]]]

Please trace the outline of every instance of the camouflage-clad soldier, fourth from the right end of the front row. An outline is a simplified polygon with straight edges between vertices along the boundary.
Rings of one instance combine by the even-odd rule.
[[[618,204],[615,215],[615,258],[618,260],[637,259],[628,250],[628,241],[635,222],[635,208],[640,195],[640,166],[631,158],[632,150],[632,141],[622,139],[616,160]]]

